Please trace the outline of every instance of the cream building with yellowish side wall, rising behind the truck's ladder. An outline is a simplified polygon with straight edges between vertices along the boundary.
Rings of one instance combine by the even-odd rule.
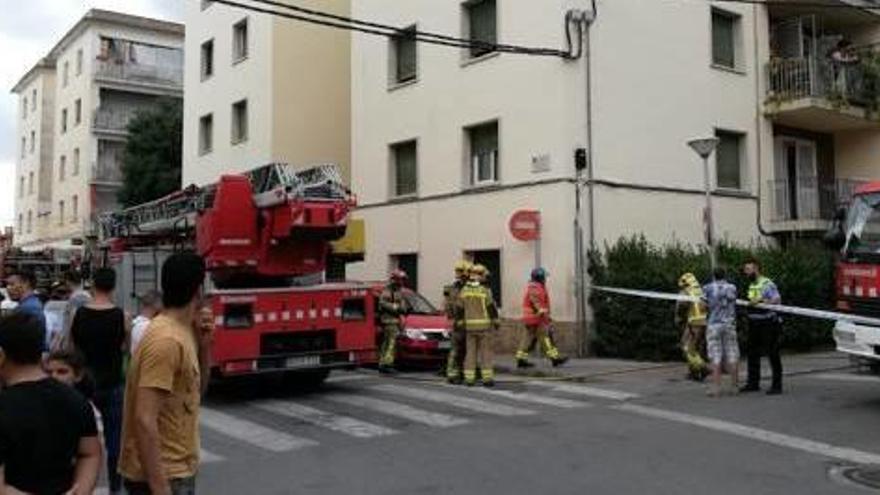
[[[299,2],[349,15],[348,0]],[[187,2],[183,182],[271,162],[350,164],[350,35]]]

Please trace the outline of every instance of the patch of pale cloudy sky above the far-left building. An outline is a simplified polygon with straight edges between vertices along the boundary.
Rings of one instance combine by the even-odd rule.
[[[0,227],[14,219],[18,99],[10,91],[90,8],[181,22],[199,0],[0,0]]]

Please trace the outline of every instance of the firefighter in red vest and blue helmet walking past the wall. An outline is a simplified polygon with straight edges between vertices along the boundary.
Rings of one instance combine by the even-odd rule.
[[[532,270],[529,284],[523,295],[522,311],[525,331],[522,333],[519,348],[516,351],[516,367],[531,368],[534,366],[529,362],[529,354],[537,345],[541,346],[544,356],[550,360],[554,367],[565,364],[568,358],[562,356],[553,343],[551,327],[553,320],[550,319],[547,271],[543,268]]]

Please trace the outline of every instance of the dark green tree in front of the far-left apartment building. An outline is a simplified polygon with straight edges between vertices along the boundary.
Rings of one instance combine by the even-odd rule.
[[[128,124],[119,202],[124,207],[165,196],[181,184],[183,105],[159,100]]]

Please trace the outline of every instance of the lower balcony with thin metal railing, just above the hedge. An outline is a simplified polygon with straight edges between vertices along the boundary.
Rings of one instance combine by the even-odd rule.
[[[822,180],[801,177],[767,181],[771,230],[824,231],[834,213],[849,203],[856,188],[865,181]]]

